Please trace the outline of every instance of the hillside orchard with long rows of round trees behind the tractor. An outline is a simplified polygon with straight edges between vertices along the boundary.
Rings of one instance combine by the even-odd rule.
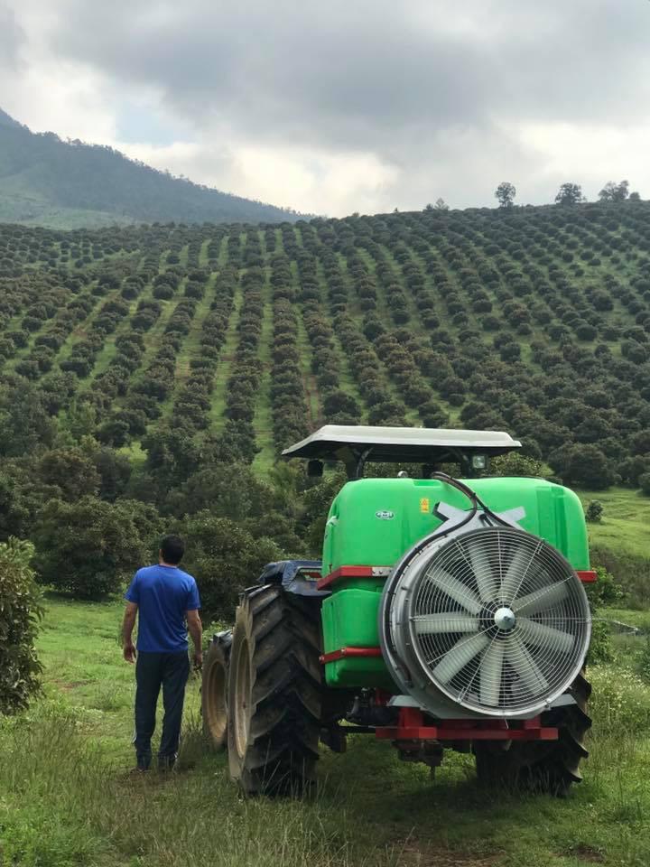
[[[169,490],[325,422],[424,424],[650,491],[650,203],[5,226],[0,273],[4,459],[92,434]]]

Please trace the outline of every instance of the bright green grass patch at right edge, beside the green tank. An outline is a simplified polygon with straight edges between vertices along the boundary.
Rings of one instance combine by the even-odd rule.
[[[585,507],[592,499],[598,499],[604,507],[600,523],[588,525],[592,545],[650,556],[650,497],[627,488],[579,490],[578,494]]]

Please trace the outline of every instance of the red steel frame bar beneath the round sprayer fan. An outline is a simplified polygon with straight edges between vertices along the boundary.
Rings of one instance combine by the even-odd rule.
[[[375,737],[386,741],[557,741],[558,730],[532,720],[442,720],[425,725],[422,711],[401,707],[395,726],[376,728]]]

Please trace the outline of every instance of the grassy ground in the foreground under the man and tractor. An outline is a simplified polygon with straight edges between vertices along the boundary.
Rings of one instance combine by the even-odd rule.
[[[346,755],[323,752],[314,800],[246,801],[225,758],[201,742],[196,679],[179,772],[128,774],[134,671],[117,644],[121,607],[47,601],[44,695],[28,713],[0,720],[3,867],[650,862],[650,689],[629,670],[630,654],[591,669],[591,757],[568,799],[487,794],[460,755],[432,779],[389,745],[356,736]]]

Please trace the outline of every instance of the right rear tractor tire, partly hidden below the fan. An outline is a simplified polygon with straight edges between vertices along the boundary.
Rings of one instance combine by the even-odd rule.
[[[580,674],[568,692],[576,704],[554,708],[542,716],[543,725],[559,730],[557,741],[512,741],[508,750],[488,742],[475,743],[479,782],[564,797],[573,783],[581,781],[580,761],[589,756],[584,740],[591,726],[587,713],[591,685]]]

